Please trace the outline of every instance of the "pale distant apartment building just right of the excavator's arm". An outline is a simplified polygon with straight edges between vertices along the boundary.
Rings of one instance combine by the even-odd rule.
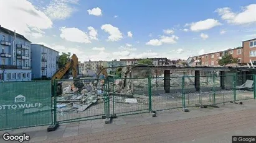
[[[85,61],[83,63],[78,64],[80,74],[84,76],[95,76],[98,74],[98,67],[103,66],[107,67],[107,61]]]

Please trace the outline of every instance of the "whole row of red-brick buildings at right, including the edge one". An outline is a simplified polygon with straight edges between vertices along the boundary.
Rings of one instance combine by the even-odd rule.
[[[234,58],[238,58],[239,64],[256,63],[256,38],[251,40],[242,41],[242,46],[228,49],[224,51],[217,51],[214,53],[202,54],[192,57],[195,65],[204,66],[219,66],[218,59],[221,59],[224,54],[232,54]]]

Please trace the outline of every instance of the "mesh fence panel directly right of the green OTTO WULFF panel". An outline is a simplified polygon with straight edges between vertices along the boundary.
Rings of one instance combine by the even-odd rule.
[[[55,85],[62,83],[63,90],[55,103],[57,123],[102,118],[106,107],[104,82],[104,79],[56,80]]]

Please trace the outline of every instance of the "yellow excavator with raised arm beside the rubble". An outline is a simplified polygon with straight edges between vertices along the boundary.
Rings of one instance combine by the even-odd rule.
[[[54,80],[55,79],[62,79],[65,73],[72,69],[72,76],[73,79],[77,78],[78,76],[78,58],[77,55],[73,54],[71,58],[65,63],[65,65],[60,68],[57,72],[55,72],[54,76],[52,76],[52,91],[54,91]],[[72,85],[72,87],[75,87]],[[62,94],[62,83],[57,83],[57,95]],[[53,95],[53,94],[52,94]]]

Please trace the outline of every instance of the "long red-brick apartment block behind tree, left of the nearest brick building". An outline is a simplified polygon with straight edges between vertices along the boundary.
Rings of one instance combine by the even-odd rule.
[[[233,48],[233,49],[228,49],[228,50],[224,50],[224,51],[217,51],[214,53],[207,53],[207,54],[202,54],[199,56],[194,56],[192,57],[195,61],[194,66],[195,65],[204,65],[204,66],[219,66],[218,64],[218,59],[221,59],[222,56],[224,56],[225,54],[232,54],[232,56],[234,58],[238,58],[239,61],[238,63],[244,63],[243,61],[243,48],[242,47],[237,47],[237,48]]]

